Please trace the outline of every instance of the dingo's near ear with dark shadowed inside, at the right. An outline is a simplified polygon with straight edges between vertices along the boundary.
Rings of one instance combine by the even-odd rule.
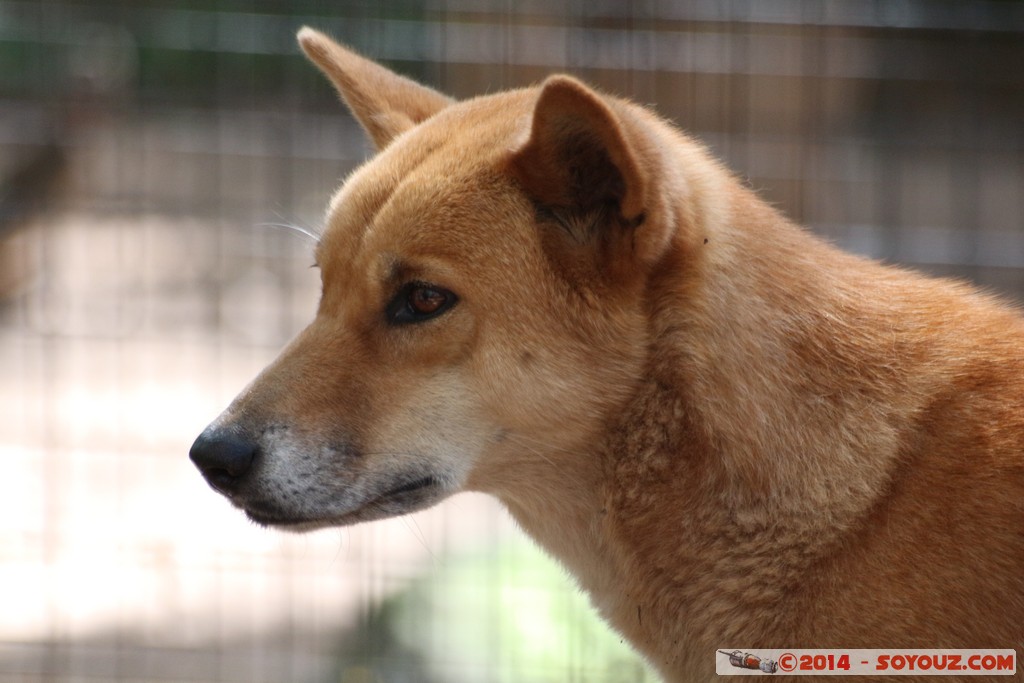
[[[600,95],[568,76],[541,86],[529,139],[513,172],[537,202],[593,211],[610,206],[627,222],[643,221],[646,177],[627,132]]]

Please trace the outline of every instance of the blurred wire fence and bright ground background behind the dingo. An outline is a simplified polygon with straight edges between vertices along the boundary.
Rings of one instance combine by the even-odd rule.
[[[494,502],[291,537],[191,439],[311,317],[369,154],[304,24],[569,71],[839,245],[1024,295],[1024,3],[0,0],[0,681],[654,680]]]

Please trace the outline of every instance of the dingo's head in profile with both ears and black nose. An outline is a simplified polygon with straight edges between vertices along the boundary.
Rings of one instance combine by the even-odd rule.
[[[299,40],[379,154],[331,202],[315,319],[191,459],[253,520],[296,529],[514,496],[529,463],[585,451],[641,374],[674,224],[653,117],[568,77],[454,102]]]

